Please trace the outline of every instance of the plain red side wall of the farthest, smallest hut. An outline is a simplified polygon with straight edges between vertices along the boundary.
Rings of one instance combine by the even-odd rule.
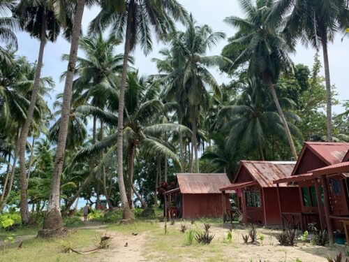
[[[222,217],[221,194],[183,194],[182,196],[184,219]]]

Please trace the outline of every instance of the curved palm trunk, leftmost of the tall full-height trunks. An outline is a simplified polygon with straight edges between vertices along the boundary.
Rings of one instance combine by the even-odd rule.
[[[21,198],[20,198],[20,214],[22,217],[22,224],[29,223],[29,211],[28,211],[28,180],[25,170],[25,147],[27,145],[27,138],[31,122],[33,121],[33,114],[38,99],[38,92],[40,87],[40,75],[41,68],[43,67],[43,52],[46,44],[46,11],[43,10],[43,16],[41,17],[41,32],[40,32],[40,48],[38,54],[38,64],[36,66],[34,85],[31,90],[31,98],[29,109],[27,112],[27,119],[25,120],[22,132],[20,135],[20,187],[21,187]]]

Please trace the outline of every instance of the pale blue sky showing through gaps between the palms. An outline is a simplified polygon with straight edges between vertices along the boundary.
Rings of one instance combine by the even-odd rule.
[[[237,0],[179,0],[179,2],[188,10],[193,13],[193,16],[200,24],[209,24],[214,31],[223,31],[227,38],[235,34],[235,29],[229,27],[223,22],[225,17],[230,15],[243,16]],[[87,29],[89,21],[91,21],[98,13],[98,8],[94,7],[86,9],[83,18],[83,28]],[[341,42],[342,35],[337,35],[333,44],[329,45],[329,63],[332,85],[336,85],[336,92],[339,96],[337,99],[340,101],[349,100],[349,92],[347,90],[347,82],[349,77],[349,38],[345,38],[343,43]],[[18,34],[19,50],[17,54],[28,57],[29,61],[36,61],[38,55],[38,41],[30,38],[30,36],[24,32]],[[216,48],[213,48],[209,54],[220,54],[225,41],[218,43]],[[148,54],[147,57],[140,51],[140,48],[135,50],[133,56],[135,57],[135,67],[139,68],[142,75],[149,75],[156,73],[156,66],[151,62],[151,58],[159,57],[158,50],[163,48],[162,43],[154,43],[153,52]],[[55,94],[62,92],[64,82],[59,82],[59,75],[66,70],[66,61],[61,61],[62,54],[68,54],[70,45],[63,38],[59,38],[56,43],[47,43],[44,54],[44,67],[43,76],[52,76],[56,82]],[[118,52],[122,52],[120,46]],[[292,55],[295,64],[306,64],[312,66],[313,56],[315,50],[306,49],[302,45],[297,46],[297,54]],[[320,52],[322,55],[322,53]],[[78,55],[83,56],[82,52]],[[321,56],[322,61],[322,56]],[[226,75],[212,69],[212,73],[215,75],[219,83],[229,82]],[[322,68],[323,74],[323,68]],[[55,95],[52,95],[52,99],[47,99],[49,105],[52,105],[52,101],[55,100]],[[342,112],[341,106],[335,106],[334,112]]]

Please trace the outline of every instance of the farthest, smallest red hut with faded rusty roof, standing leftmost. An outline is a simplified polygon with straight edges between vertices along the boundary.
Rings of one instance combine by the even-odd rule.
[[[176,189],[165,192],[164,212],[169,217],[193,219],[221,217],[221,187],[229,184],[226,174],[179,173]]]

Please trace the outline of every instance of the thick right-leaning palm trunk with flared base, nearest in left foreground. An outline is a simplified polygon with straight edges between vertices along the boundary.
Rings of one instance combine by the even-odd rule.
[[[61,122],[59,124],[59,137],[57,143],[56,158],[54,159],[54,170],[50,189],[47,214],[43,222],[44,230],[55,230],[63,228],[63,221],[59,206],[59,187],[61,184],[61,173],[64,161],[64,152],[66,150],[66,137],[68,134],[68,123],[70,116],[70,102],[73,86],[75,64],[77,59],[77,49],[79,47],[79,38],[81,31],[82,16],[84,15],[85,0],[77,1],[75,10],[73,33],[70,44],[70,54],[68,69],[66,73],[66,83],[64,85],[63,103],[61,108]],[[40,235],[40,232],[39,232]]]

